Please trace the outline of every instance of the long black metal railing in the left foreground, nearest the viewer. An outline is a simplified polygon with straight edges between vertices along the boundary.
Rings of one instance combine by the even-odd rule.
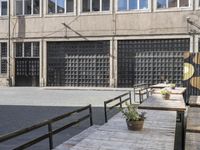
[[[62,126],[60,128],[57,128],[57,129],[54,129],[54,130],[52,129],[52,124],[53,123],[55,123],[57,121],[60,121],[62,119],[65,119],[66,117],[70,117],[72,115],[75,115],[77,113],[85,111],[87,109],[89,110],[89,113],[87,115],[84,115],[84,116],[78,118],[76,121],[70,122],[70,123],[68,123],[68,124],[66,124],[66,125],[64,125],[64,126]],[[0,143],[8,141],[8,140],[11,140],[11,139],[16,138],[18,136],[24,135],[26,133],[30,133],[30,132],[32,132],[34,130],[37,130],[39,128],[47,126],[48,127],[48,133],[43,134],[40,137],[32,139],[32,140],[30,140],[30,141],[28,141],[28,142],[26,142],[26,143],[24,143],[24,144],[22,144],[22,145],[20,145],[20,146],[18,146],[16,148],[14,148],[14,150],[26,149],[26,148],[31,147],[32,145],[37,144],[37,143],[39,143],[39,142],[41,142],[41,141],[43,141],[43,140],[45,140],[47,138],[49,139],[49,149],[51,150],[51,149],[53,149],[53,135],[65,130],[65,129],[71,127],[71,126],[74,126],[74,125],[76,125],[76,124],[78,124],[78,123],[80,123],[80,122],[82,122],[82,121],[84,121],[84,120],[86,120],[88,118],[90,119],[90,126],[92,126],[93,125],[93,120],[92,120],[92,107],[91,107],[91,105],[79,108],[79,109],[74,110],[74,111],[69,112],[69,113],[65,113],[65,114],[57,116],[55,118],[40,122],[40,123],[35,124],[35,125],[31,126],[31,127],[20,129],[20,130],[17,130],[15,132],[12,132],[12,133],[9,133],[9,134],[6,134],[6,135],[2,135],[2,136],[0,136]]]

